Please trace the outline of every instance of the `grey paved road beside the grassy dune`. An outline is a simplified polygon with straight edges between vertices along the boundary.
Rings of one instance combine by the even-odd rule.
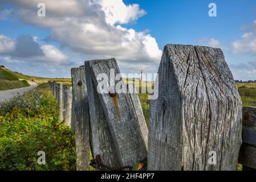
[[[25,92],[32,90],[36,88],[36,86],[38,86],[35,82],[29,82],[29,84],[30,86],[27,86],[24,88],[0,91],[0,102],[10,100],[14,96],[17,96],[18,94],[22,95]]]

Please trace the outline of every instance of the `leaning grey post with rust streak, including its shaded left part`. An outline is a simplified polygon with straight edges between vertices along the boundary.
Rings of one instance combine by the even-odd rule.
[[[120,75],[115,59],[86,61],[85,67],[94,156],[100,155],[101,162],[110,169],[132,167],[147,158],[146,123],[138,119],[137,114],[140,113],[136,113],[132,95],[127,93],[123,80],[115,80],[115,76]],[[113,78],[110,76],[112,74]],[[106,92],[97,92],[99,85],[106,88]],[[125,92],[117,92],[116,85]],[[111,155],[105,156],[105,152]]]

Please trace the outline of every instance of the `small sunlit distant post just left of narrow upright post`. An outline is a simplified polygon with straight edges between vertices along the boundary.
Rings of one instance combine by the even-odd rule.
[[[63,117],[66,121],[67,126],[71,126],[71,113],[72,113],[72,87],[64,87],[64,110]]]

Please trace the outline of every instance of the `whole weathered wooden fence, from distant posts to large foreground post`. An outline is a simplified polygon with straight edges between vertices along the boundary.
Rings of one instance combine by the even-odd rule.
[[[135,85],[109,80],[111,70],[120,73],[115,59],[86,61],[71,69],[72,88],[48,82],[75,133],[77,170],[235,170],[238,158],[256,168],[256,108],[242,110],[221,49],[165,46],[149,130],[137,92],[115,91]]]

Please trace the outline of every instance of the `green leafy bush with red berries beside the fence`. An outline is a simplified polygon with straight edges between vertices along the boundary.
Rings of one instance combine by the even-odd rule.
[[[75,139],[47,85],[0,105],[0,170],[75,170]],[[37,164],[38,151],[46,165]]]

